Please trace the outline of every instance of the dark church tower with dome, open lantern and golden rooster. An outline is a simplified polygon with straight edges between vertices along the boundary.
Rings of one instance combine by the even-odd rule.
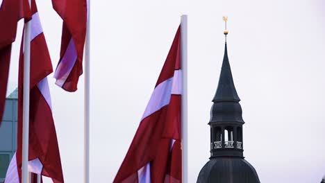
[[[227,18],[224,17],[224,21]],[[228,30],[224,30],[228,35]],[[217,92],[210,112],[210,161],[203,166],[198,183],[260,183],[255,168],[244,159],[242,107],[233,83],[227,42]]]

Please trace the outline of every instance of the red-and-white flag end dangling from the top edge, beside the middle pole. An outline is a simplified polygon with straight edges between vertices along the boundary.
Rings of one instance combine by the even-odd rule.
[[[83,73],[83,47],[88,17],[88,0],[52,0],[53,8],[63,19],[60,60],[54,78],[56,85],[75,92]]]

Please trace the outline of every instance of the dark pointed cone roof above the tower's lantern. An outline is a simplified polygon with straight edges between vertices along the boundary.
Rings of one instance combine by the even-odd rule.
[[[231,74],[231,67],[228,60],[227,43],[224,45],[224,61],[222,62],[222,71],[220,72],[219,84],[213,102],[221,101],[236,101],[240,98],[236,92],[233,84],[233,75]]]

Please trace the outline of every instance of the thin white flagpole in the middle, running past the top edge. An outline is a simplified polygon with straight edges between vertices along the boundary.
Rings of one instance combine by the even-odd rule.
[[[87,33],[85,40],[85,122],[84,122],[84,182],[89,183],[90,148],[90,0],[87,1]]]

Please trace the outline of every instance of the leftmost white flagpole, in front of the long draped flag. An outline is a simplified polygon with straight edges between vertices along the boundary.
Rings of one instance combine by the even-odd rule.
[[[31,0],[28,0],[31,7]],[[28,139],[29,139],[29,82],[31,71],[31,21],[25,23],[24,33],[24,98],[22,134],[22,183],[28,183]]]

